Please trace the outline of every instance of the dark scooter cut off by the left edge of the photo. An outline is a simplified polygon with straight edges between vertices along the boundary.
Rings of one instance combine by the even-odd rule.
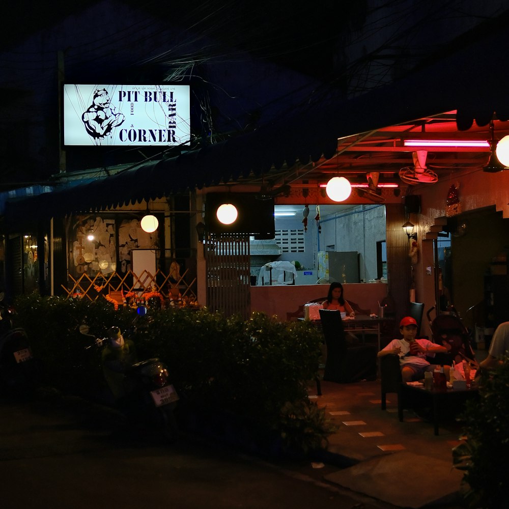
[[[0,393],[30,395],[38,385],[38,366],[29,338],[22,328],[13,326],[14,309],[4,303],[0,293]]]

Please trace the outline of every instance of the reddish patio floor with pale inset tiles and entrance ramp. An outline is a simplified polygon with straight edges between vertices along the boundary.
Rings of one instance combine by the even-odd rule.
[[[423,507],[431,502],[455,500],[462,472],[452,466],[452,448],[459,443],[458,422],[443,423],[434,434],[433,423],[412,411],[398,418],[396,394],[389,394],[381,410],[380,382],[322,383],[322,395],[311,397],[336,425],[329,451],[357,462],[324,476],[340,485],[401,507]],[[407,475],[411,472],[411,475]],[[394,491],[394,479],[400,489]]]

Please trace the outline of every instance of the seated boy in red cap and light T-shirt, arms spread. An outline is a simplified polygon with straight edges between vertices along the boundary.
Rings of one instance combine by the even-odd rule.
[[[444,346],[429,340],[416,340],[417,322],[412,317],[405,317],[400,322],[401,340],[392,340],[385,348],[378,352],[378,357],[398,355],[400,357],[401,375],[404,382],[421,380],[426,371],[434,371],[435,365],[426,360],[426,356],[439,352],[446,352]],[[449,379],[449,366],[444,366],[444,373]]]

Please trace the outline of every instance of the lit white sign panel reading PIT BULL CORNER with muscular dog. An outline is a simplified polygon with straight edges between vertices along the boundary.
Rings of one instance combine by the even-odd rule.
[[[64,85],[64,145],[189,145],[188,85]]]

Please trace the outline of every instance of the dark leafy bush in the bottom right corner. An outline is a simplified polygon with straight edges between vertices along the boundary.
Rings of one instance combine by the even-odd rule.
[[[479,398],[467,402],[460,419],[464,440],[453,449],[464,470],[464,495],[470,507],[509,507],[509,356],[479,380]]]

